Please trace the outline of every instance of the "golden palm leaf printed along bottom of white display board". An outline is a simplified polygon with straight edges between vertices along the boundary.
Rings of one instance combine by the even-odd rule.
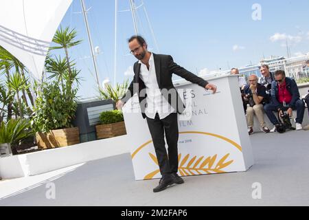
[[[155,164],[159,166],[157,157],[153,155],[152,153],[149,153],[150,158],[152,159]],[[202,174],[210,174],[210,173],[225,173],[223,168],[226,168],[229,166],[231,163],[233,163],[233,159],[229,160],[226,162],[227,157],[229,157],[229,153],[227,153],[225,156],[223,156],[217,163],[216,165],[216,159],[218,155],[214,156],[209,156],[209,157],[198,157],[194,156],[190,159],[190,154],[185,155],[181,159],[181,153],[178,155],[178,161],[179,161],[179,173],[181,176],[189,176],[189,175],[202,175]],[[205,158],[205,159],[204,159]],[[160,170],[155,170],[148,175],[144,177],[144,179],[152,179],[157,173],[159,173]]]

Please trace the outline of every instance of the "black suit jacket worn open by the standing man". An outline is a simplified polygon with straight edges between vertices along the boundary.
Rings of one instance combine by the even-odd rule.
[[[208,84],[206,80],[201,77],[198,77],[191,72],[187,71],[183,67],[174,63],[172,56],[162,55],[162,54],[153,54],[155,61],[155,70],[157,75],[157,82],[161,93],[166,100],[171,104],[171,106],[176,109],[177,113],[182,113],[185,110],[185,105],[183,104],[177,90],[175,89],[172,83],[172,74],[176,74],[185,78],[185,80],[190,81],[191,83],[196,83],[201,87],[204,87]],[[141,115],[143,118],[146,118],[145,108],[146,108],[146,86],[139,78],[139,72],[141,69],[141,64],[138,61],[134,64],[134,78],[128,87],[128,91],[122,97],[122,102],[126,103],[133,95],[138,92],[139,95],[139,104],[141,107]],[[166,93],[165,91],[168,91]],[[173,96],[174,94],[175,96]],[[176,102],[172,101],[172,98],[176,97]]]

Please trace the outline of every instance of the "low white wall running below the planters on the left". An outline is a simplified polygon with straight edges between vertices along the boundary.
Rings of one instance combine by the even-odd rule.
[[[0,158],[3,179],[38,175],[95,159],[129,153],[126,135]]]

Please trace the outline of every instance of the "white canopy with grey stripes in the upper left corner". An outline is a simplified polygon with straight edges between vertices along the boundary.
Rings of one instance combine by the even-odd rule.
[[[0,45],[41,79],[53,36],[72,0],[1,0]]]

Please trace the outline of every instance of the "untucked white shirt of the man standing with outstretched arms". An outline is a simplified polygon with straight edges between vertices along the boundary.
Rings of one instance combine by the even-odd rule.
[[[147,94],[145,114],[148,118],[154,119],[156,113],[158,113],[160,119],[163,119],[170,115],[170,113],[175,112],[175,110],[163,97],[161,89],[159,89],[153,54],[151,53],[149,59],[149,70],[144,63],[141,61],[139,63],[141,64],[139,78],[145,83]]]

